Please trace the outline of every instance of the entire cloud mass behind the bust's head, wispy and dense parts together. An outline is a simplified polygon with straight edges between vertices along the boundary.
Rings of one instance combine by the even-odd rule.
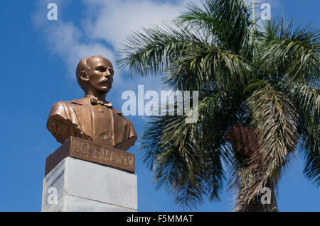
[[[185,10],[187,0],[156,2],[151,0],[90,0],[83,1],[86,8],[85,18],[72,18],[72,21],[63,21],[59,13],[68,9],[70,1],[57,0],[58,21],[48,21],[46,6],[49,0],[40,0],[36,3],[38,10],[33,13],[33,25],[43,33],[48,49],[58,55],[67,65],[70,78],[75,79],[75,67],[80,59],[91,55],[103,55],[111,62],[115,62],[116,52],[126,35],[133,30],[139,30],[151,24],[175,18]],[[80,13],[79,13],[80,15]],[[80,21],[80,26],[75,22]],[[117,69],[117,68],[116,68]],[[134,84],[146,84],[148,79],[124,79],[117,74],[114,87],[121,85],[122,89]],[[160,81],[152,84],[159,89]],[[139,82],[139,83],[138,83]]]

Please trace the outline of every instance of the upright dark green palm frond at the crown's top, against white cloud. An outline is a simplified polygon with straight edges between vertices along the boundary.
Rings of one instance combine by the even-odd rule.
[[[203,0],[202,6],[189,4],[188,11],[178,16],[181,25],[195,30],[206,30],[212,45],[235,54],[249,53],[252,30],[250,30],[250,8],[244,1]],[[246,47],[246,48],[244,48]]]

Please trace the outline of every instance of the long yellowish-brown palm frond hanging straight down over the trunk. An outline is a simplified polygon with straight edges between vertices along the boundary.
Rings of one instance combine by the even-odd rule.
[[[248,104],[252,126],[259,135],[260,151],[250,159],[254,179],[247,185],[250,189],[245,193],[246,200],[257,196],[268,180],[277,183],[299,140],[297,109],[285,92],[264,82],[250,96]]]

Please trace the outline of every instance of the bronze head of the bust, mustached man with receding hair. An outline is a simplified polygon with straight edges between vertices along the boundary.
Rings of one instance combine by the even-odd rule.
[[[78,63],[77,81],[87,94],[88,90],[106,94],[113,81],[113,67],[109,60],[100,55],[85,57]]]

